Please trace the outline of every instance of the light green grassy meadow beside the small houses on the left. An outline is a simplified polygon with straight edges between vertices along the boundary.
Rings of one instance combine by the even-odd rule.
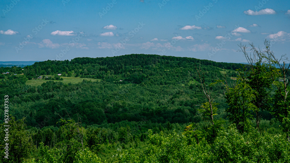
[[[64,80],[53,80],[54,82],[62,82],[64,84],[68,84],[68,83],[79,83],[82,82],[83,80],[91,80],[91,81],[100,81],[101,79],[91,79],[91,78],[80,78],[80,77],[61,77]],[[35,80],[27,80],[26,81],[26,85],[31,85],[31,86],[38,86],[41,85],[42,83],[45,83],[47,81],[50,80],[44,80],[44,79],[35,79]]]

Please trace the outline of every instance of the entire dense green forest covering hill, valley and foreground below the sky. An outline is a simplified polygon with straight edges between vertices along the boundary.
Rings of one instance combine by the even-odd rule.
[[[290,162],[289,67],[267,43],[240,45],[248,65],[131,54],[1,67],[0,160]]]

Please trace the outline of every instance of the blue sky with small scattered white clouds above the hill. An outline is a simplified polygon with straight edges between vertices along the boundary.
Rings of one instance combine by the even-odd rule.
[[[0,61],[159,54],[246,62],[238,44],[290,54],[289,0],[10,0]]]

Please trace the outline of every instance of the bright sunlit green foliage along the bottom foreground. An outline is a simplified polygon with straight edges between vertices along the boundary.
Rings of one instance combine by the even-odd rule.
[[[153,134],[148,130],[149,143],[142,155],[137,156],[134,149],[118,149],[113,155],[115,163],[166,163],[166,162],[290,162],[290,146],[281,135],[270,136],[260,134],[251,128],[249,133],[240,133],[235,124],[227,129],[218,130],[218,136],[212,144],[206,141],[206,136],[200,135],[197,144],[191,137],[190,130],[193,125],[187,126],[184,133]],[[209,129],[210,130],[210,129]],[[207,130],[207,131],[209,131]],[[206,135],[206,134],[205,134]],[[53,154],[54,153],[54,154]],[[57,153],[57,152],[56,152]],[[48,150],[48,146],[41,145],[38,150],[41,157],[24,161],[25,163],[51,163],[62,162],[55,149]],[[73,163],[101,163],[101,160],[88,148],[77,151]]]

